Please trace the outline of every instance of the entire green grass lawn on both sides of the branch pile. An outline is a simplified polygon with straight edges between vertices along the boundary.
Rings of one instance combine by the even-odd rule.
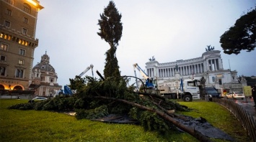
[[[76,120],[63,113],[36,110],[8,110],[7,107],[28,100],[0,99],[0,141],[197,141],[187,133],[171,132],[161,136],[145,132],[141,126]],[[239,122],[229,111],[216,103],[184,103],[191,112],[182,112],[195,118],[203,117],[213,126],[229,133],[237,141],[250,141]],[[213,108],[208,112],[209,108]],[[218,111],[216,111],[218,110]],[[214,113],[214,114],[213,114]],[[238,136],[237,136],[238,135]],[[216,140],[213,141],[223,141]]]

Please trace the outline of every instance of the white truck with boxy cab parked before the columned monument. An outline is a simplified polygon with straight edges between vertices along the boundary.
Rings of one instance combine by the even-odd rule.
[[[160,95],[171,99],[182,98],[185,102],[200,99],[199,80],[183,80],[182,85],[183,90],[169,86],[159,86],[158,90]]]

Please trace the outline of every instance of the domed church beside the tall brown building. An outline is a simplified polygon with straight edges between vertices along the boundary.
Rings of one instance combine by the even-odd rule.
[[[50,65],[50,57],[45,52],[41,61],[32,68],[32,82],[30,89],[35,90],[35,95],[53,97],[56,90],[61,90],[57,83],[58,75],[54,67]]]

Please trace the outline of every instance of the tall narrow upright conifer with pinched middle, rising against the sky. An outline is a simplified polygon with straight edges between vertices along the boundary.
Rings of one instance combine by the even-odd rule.
[[[115,56],[118,42],[122,37],[123,25],[120,22],[122,15],[118,13],[118,9],[115,8],[113,1],[110,1],[108,6],[104,9],[104,12],[100,14],[98,25],[100,25],[100,32],[97,34],[101,39],[110,44],[110,49],[105,53],[106,62],[104,75],[107,77],[115,77],[117,80],[120,79],[120,71],[118,66],[118,59]]]

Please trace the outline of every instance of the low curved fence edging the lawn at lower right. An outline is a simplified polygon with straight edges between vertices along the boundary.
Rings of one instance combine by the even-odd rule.
[[[213,99],[213,102],[223,105],[242,123],[242,126],[247,131],[248,135],[252,138],[252,141],[256,141],[256,122],[252,114],[248,113],[242,106],[234,103],[232,100],[226,99]]]

